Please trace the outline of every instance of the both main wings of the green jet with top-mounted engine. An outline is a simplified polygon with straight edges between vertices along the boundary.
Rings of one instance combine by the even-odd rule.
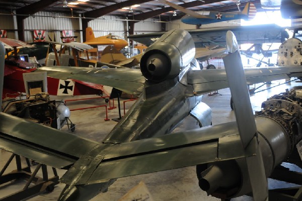
[[[145,81],[139,70],[102,69],[77,67],[43,67],[37,71],[47,71],[47,76],[61,80],[73,79],[117,88],[129,94],[138,93]],[[245,69],[248,83],[270,82],[289,77],[302,77],[300,66],[284,66],[276,68]],[[196,95],[218,89],[228,88],[228,79],[224,69],[195,70],[187,74],[188,84],[193,85]]]

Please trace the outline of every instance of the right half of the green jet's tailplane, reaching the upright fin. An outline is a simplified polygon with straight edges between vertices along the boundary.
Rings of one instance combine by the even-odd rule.
[[[93,184],[253,154],[249,149],[243,151],[236,122],[229,122],[110,146],[96,158],[99,165],[87,169],[87,172],[92,172],[90,176],[74,181],[73,173],[68,171],[61,181],[71,185]],[[73,168],[79,168],[73,171],[77,173],[85,167],[79,165]]]

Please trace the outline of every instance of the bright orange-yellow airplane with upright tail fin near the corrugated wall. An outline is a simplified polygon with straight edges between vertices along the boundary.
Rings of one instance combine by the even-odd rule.
[[[107,36],[95,37],[91,27],[86,28],[86,41],[84,42],[88,45],[113,45],[115,49],[120,51],[123,47],[128,45],[128,42],[123,40],[119,36],[109,34]]]

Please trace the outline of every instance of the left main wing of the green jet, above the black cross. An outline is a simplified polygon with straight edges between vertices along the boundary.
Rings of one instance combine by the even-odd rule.
[[[139,70],[84,68],[53,66],[39,68],[37,72],[47,72],[47,76],[61,80],[80,80],[105,86],[114,87],[125,93],[138,93],[137,89],[143,86],[144,77]]]

